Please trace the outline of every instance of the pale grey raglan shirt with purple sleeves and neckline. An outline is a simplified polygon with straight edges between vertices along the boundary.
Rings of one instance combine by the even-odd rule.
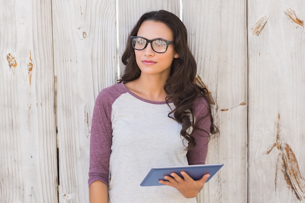
[[[171,103],[171,108],[174,106]],[[180,136],[181,124],[168,117],[166,102],[153,102],[129,91],[123,83],[102,90],[93,113],[89,185],[109,185],[109,203],[196,203],[170,186],[142,187],[140,183],[154,166],[204,164],[209,134],[193,133],[196,147],[187,151]],[[195,122],[209,132],[210,116],[204,98],[193,106]]]

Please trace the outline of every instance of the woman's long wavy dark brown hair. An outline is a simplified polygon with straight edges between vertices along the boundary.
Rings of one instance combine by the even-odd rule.
[[[197,85],[195,81],[197,73],[197,64],[191,50],[188,46],[188,33],[183,22],[174,14],[160,10],[145,13],[137,21],[128,37],[125,51],[122,55],[122,62],[126,66],[124,74],[118,80],[121,82],[129,82],[138,78],[141,74],[134,55],[131,36],[136,36],[141,24],[146,20],[153,20],[166,24],[171,30],[175,41],[175,51],[179,55],[174,58],[171,67],[171,73],[167,79],[164,90],[167,93],[166,102],[173,102],[175,108],[169,113],[169,117],[175,119],[182,124],[181,135],[189,142],[187,149],[195,147],[196,142],[192,133],[195,130],[203,130],[198,128],[197,122],[192,122],[194,118],[193,103],[198,96],[202,96],[207,100],[209,111],[206,115],[202,115],[201,119],[210,116],[210,133],[214,134],[218,129],[214,126],[213,117],[211,115],[209,91],[206,87]],[[191,111],[191,115],[190,115]],[[174,115],[172,117],[171,115]],[[197,120],[198,121],[198,120]],[[189,128],[193,130],[189,132]],[[204,134],[208,134],[209,132]]]

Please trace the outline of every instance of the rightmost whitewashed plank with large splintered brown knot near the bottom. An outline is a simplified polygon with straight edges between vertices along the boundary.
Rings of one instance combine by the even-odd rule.
[[[251,203],[305,203],[305,1],[248,0]]]

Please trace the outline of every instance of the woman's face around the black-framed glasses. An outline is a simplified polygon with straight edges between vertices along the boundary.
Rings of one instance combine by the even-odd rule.
[[[147,39],[161,38],[173,41],[171,29],[162,22],[152,20],[144,21],[137,33],[137,36]],[[165,53],[156,53],[152,50],[151,43],[148,43],[144,50],[134,50],[136,63],[143,74],[160,74],[168,77],[171,72],[172,60],[178,58],[174,45],[170,44]]]

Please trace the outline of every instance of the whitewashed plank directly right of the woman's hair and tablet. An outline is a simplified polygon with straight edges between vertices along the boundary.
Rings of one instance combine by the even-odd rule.
[[[213,135],[206,163],[224,163],[204,186],[200,203],[247,202],[246,0],[183,1],[198,74],[216,105],[220,133]]]

